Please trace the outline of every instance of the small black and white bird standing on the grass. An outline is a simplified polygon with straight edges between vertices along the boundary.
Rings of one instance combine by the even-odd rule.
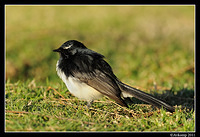
[[[88,49],[79,41],[69,40],[53,51],[60,53],[56,64],[58,76],[68,90],[79,99],[86,100],[88,106],[93,100],[107,96],[121,106],[128,107],[125,98],[135,97],[170,112],[175,111],[164,101],[121,82],[103,55]]]

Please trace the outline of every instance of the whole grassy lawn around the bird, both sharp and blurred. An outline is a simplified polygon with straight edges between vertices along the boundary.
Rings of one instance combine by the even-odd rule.
[[[56,75],[69,39],[103,55],[123,82],[174,114],[104,97],[88,110]],[[6,131],[194,131],[194,7],[6,7]]]

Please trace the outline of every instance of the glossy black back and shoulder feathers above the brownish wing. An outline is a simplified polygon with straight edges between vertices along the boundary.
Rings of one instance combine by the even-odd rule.
[[[62,57],[60,59],[59,68],[62,69],[67,77],[76,72],[92,76],[95,70],[99,70],[114,80],[116,76],[113,74],[110,65],[103,58],[103,55],[90,49],[76,49],[75,54],[68,56],[68,58]]]

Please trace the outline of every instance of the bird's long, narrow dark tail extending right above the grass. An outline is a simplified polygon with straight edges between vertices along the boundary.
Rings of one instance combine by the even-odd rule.
[[[118,82],[119,83],[119,87],[122,90],[122,96],[123,97],[135,97],[137,99],[140,99],[146,103],[149,103],[151,105],[154,105],[156,107],[163,107],[165,109],[167,109],[170,112],[174,112],[175,108],[168,105],[167,103],[165,103],[164,101],[157,99],[155,97],[153,97],[150,94],[147,94],[141,90],[138,90],[136,88],[133,88],[131,86],[128,86],[124,83],[122,83],[121,81]]]

